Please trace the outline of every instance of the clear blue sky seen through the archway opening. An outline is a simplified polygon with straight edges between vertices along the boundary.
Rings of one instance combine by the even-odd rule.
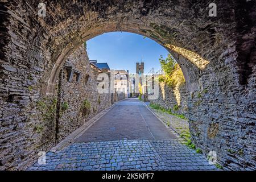
[[[168,51],[149,38],[129,32],[110,32],[86,42],[89,59],[98,63],[107,62],[110,69],[125,69],[136,72],[136,63],[144,62],[144,73],[154,67],[160,69],[159,57],[167,57]]]

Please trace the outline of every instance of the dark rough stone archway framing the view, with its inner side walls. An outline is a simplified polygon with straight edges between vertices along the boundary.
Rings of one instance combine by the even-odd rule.
[[[29,148],[51,146],[37,143],[31,115],[40,94],[54,94],[65,59],[94,36],[128,31],[166,47],[193,95],[209,90],[189,100],[196,145],[216,151],[226,168],[255,169],[254,1],[215,1],[217,17],[209,17],[208,1],[54,1],[46,17],[37,15],[39,3],[1,2],[2,166],[22,168],[35,154]]]

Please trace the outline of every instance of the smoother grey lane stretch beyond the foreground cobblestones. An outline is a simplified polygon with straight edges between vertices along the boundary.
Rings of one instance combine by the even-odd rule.
[[[138,99],[118,102],[76,143],[123,139],[177,139]]]

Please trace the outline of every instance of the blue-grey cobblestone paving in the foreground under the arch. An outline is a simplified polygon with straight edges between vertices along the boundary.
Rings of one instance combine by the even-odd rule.
[[[216,170],[178,139],[75,143],[29,170]]]

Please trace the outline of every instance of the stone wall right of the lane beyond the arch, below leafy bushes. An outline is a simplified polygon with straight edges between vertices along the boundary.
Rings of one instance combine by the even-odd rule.
[[[188,118],[188,96],[189,92],[185,84],[179,87],[179,96],[177,96],[174,88],[167,86],[164,82],[160,82],[159,97],[156,100],[151,100],[150,102],[159,104],[166,109],[171,109],[174,113],[183,114]],[[174,109],[176,106],[179,106],[178,110]]]

